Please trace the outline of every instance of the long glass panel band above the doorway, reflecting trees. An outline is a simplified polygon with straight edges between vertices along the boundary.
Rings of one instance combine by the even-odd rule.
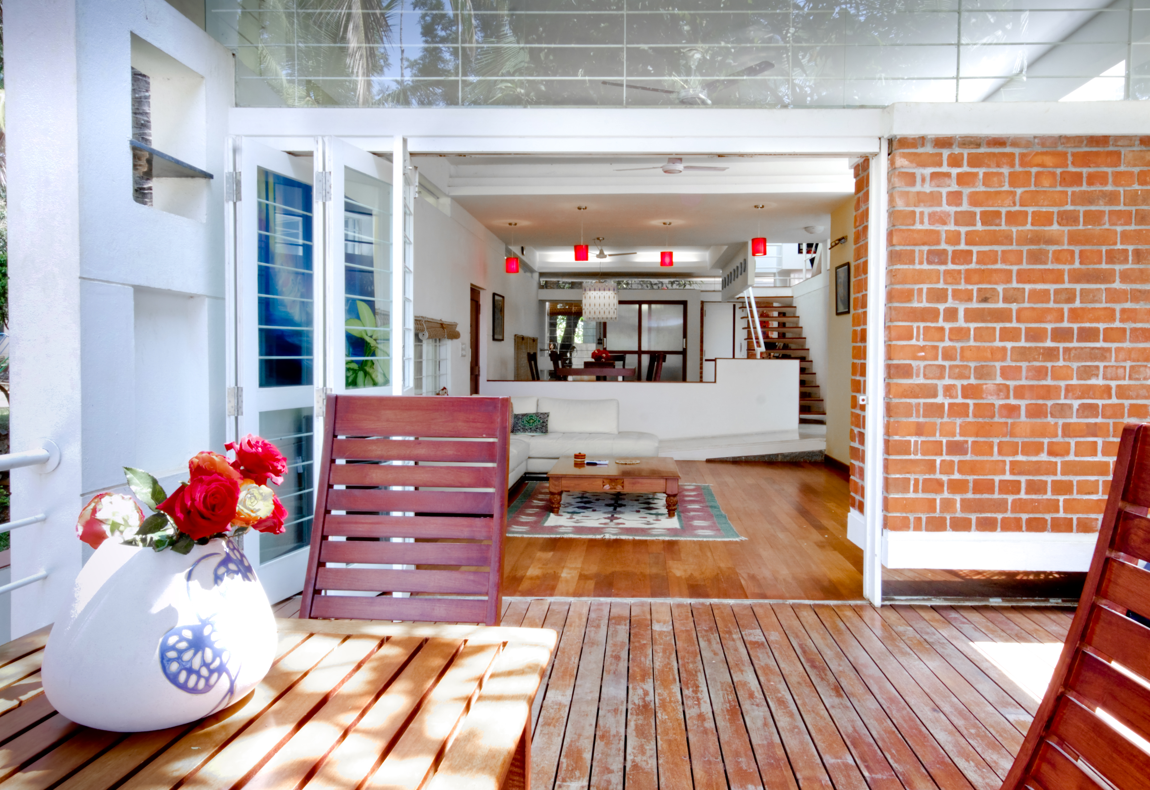
[[[1150,0],[207,0],[250,107],[1150,98]]]

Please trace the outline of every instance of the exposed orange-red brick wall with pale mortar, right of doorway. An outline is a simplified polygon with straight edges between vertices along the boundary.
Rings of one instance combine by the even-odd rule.
[[[1095,531],[1150,419],[1150,137],[891,147],[887,527]]]

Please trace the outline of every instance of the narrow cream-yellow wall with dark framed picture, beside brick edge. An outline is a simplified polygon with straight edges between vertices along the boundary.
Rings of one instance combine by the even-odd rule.
[[[827,373],[819,371],[819,384],[827,407],[827,455],[851,460],[851,314],[835,315],[835,267],[851,261],[854,251],[854,199],[850,198],[830,213],[831,240],[846,241],[830,251],[827,270]],[[851,270],[853,277],[853,262]],[[853,285],[852,285],[853,287]]]

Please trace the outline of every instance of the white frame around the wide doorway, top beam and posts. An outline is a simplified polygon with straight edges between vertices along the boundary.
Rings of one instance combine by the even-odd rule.
[[[888,110],[726,110],[711,109],[580,109],[581,130],[572,135],[572,110],[508,108],[233,108],[233,133],[260,137],[282,149],[308,144],[314,136],[338,137],[365,151],[391,151],[393,205],[399,207],[405,162],[411,154],[437,153],[759,153],[871,156],[871,204],[867,254],[867,431],[864,484],[866,524],[864,595],[882,600],[883,522],[883,327],[885,304],[887,141],[894,121]],[[915,122],[921,118],[915,117]],[[466,130],[466,131],[461,131]],[[675,130],[668,133],[667,130]],[[715,130],[721,130],[716,133]],[[850,130],[852,133],[843,133]],[[769,190],[769,187],[768,187]],[[401,253],[402,215],[392,216],[393,250]],[[393,261],[399,255],[393,256]],[[398,269],[399,267],[397,267]],[[402,273],[392,293],[397,327],[402,313]],[[397,337],[397,332],[392,332]],[[393,340],[394,343],[394,340]],[[405,352],[400,352],[405,353]],[[401,359],[401,358],[400,358]],[[400,359],[396,361],[399,362]],[[874,361],[872,361],[874,360]],[[404,360],[406,362],[406,360]],[[406,368],[406,365],[404,366]],[[411,388],[404,373],[404,388]],[[398,392],[397,392],[398,393]],[[874,415],[871,417],[871,415]]]

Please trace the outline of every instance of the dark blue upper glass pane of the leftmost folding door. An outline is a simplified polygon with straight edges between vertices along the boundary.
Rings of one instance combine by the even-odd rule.
[[[260,386],[313,381],[315,301],[312,187],[259,169]]]

